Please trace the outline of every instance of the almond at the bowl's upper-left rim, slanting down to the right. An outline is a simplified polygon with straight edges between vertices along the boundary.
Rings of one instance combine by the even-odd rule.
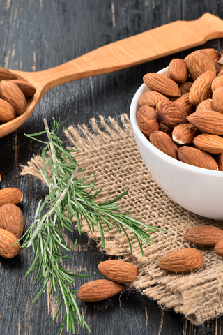
[[[181,96],[178,84],[164,75],[160,75],[159,73],[147,73],[144,75],[143,80],[151,91],[156,91],[172,98]]]

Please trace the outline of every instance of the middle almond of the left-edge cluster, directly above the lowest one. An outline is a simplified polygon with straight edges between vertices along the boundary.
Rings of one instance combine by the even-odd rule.
[[[8,230],[17,239],[22,236],[24,223],[22,211],[15,204],[4,204],[0,207],[0,228]]]

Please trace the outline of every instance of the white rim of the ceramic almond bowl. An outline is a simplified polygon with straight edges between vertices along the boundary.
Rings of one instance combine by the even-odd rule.
[[[162,70],[158,71],[158,74],[162,74],[164,71],[168,70],[168,66],[166,68],[162,68]],[[137,114],[137,104],[139,102],[139,97],[141,96],[141,91],[145,91],[145,89],[148,89],[146,84],[141,84],[139,89],[135,92],[131,104],[130,104],[130,123],[132,126],[132,130],[134,134],[138,137],[140,142],[144,144],[144,147],[146,147],[148,150],[152,151],[153,154],[160,157],[163,161],[167,161],[167,163],[171,165],[175,165],[178,168],[181,168],[183,170],[189,170],[191,172],[195,172],[197,174],[202,175],[208,175],[208,176],[214,176],[214,177],[223,177],[223,171],[219,170],[209,170],[204,168],[199,168],[194,165],[190,165],[187,163],[183,163],[181,161],[176,160],[175,158],[172,158],[171,156],[168,156],[167,154],[164,154],[164,152],[160,151],[160,149],[157,149],[154,147],[154,145],[147,140],[147,138],[144,136],[144,134],[139,129],[139,126],[137,124],[136,114]]]

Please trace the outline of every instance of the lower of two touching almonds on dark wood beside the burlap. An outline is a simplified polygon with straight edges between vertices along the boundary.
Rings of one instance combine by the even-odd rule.
[[[80,300],[86,302],[96,302],[109,299],[125,288],[121,283],[107,281],[107,279],[98,279],[97,281],[89,281],[82,285],[77,296]]]

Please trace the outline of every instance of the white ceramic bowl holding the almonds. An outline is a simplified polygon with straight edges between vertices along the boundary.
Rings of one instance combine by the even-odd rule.
[[[167,69],[164,68],[158,73]],[[139,97],[146,91],[149,91],[148,87],[142,84],[130,105],[134,139],[146,168],[174,202],[195,214],[223,220],[223,171],[197,168],[177,161],[154,147],[141,133],[136,114],[140,107]]]

